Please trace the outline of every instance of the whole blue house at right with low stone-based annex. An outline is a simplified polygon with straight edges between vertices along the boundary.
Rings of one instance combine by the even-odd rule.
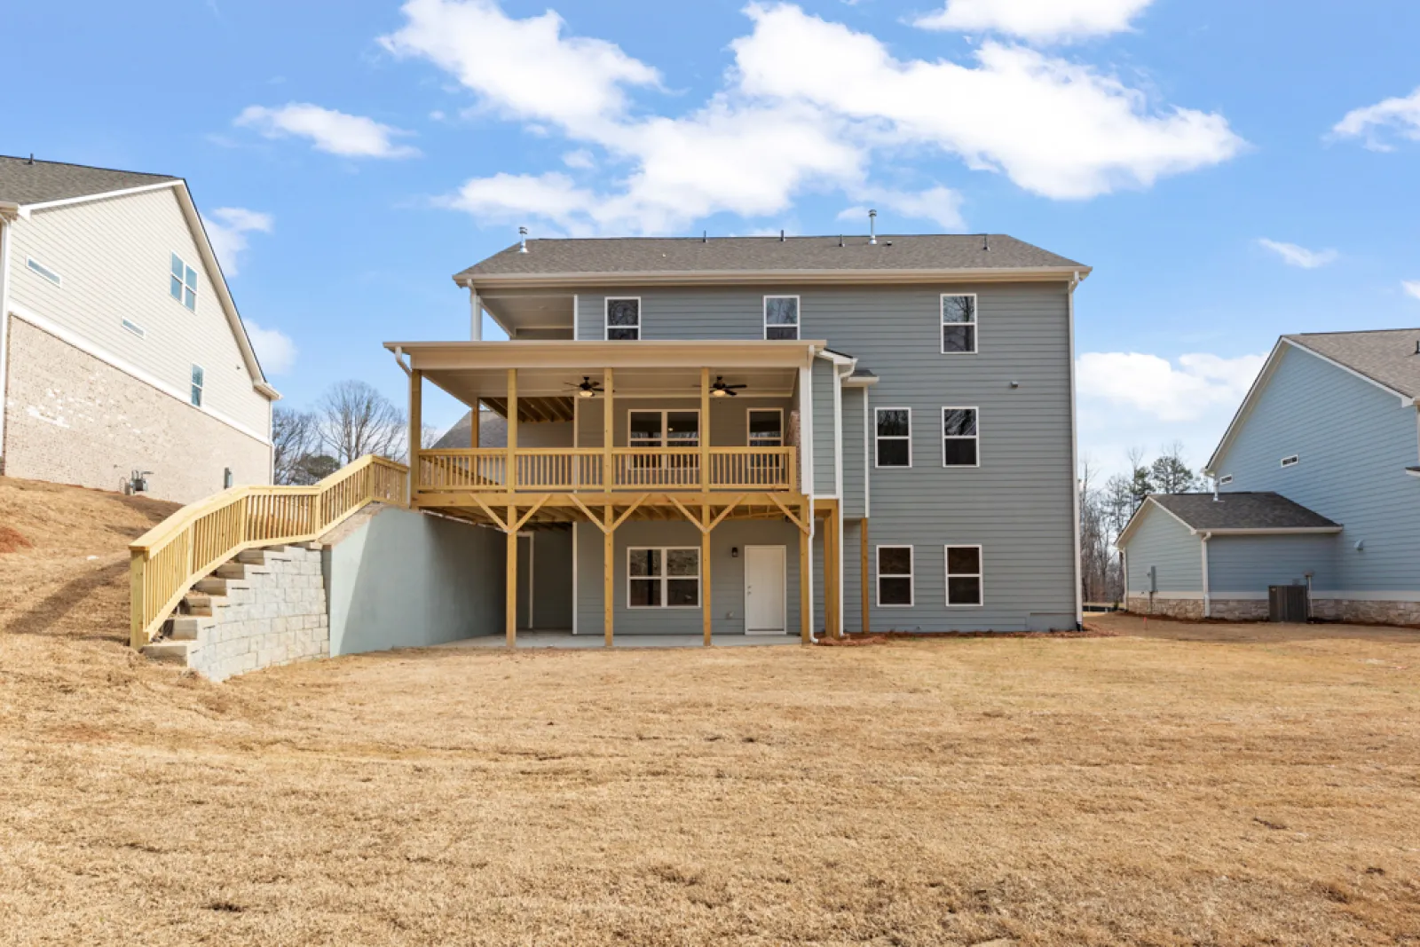
[[[1420,329],[1285,335],[1208,459],[1120,534],[1132,611],[1420,623]]]

